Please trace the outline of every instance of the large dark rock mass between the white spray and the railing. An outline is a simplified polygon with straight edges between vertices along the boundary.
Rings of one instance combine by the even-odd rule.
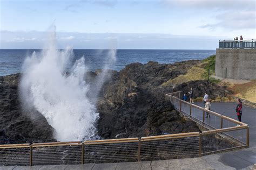
[[[198,62],[166,65],[150,61],[145,65],[132,63],[120,70],[119,77],[106,82],[100,94],[98,134],[124,138],[199,131],[194,123],[183,121],[172,104],[165,101],[165,94],[172,92],[172,87],[161,87]]]

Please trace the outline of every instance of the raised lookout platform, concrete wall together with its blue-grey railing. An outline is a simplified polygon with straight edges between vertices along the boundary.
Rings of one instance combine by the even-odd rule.
[[[256,40],[223,40],[216,49],[215,75],[221,79],[255,80]]]

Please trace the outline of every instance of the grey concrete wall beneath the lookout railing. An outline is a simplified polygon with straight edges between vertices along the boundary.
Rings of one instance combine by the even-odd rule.
[[[215,73],[236,80],[256,79],[256,49],[216,49]]]

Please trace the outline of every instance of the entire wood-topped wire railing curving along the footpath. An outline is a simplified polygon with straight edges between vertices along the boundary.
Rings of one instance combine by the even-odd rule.
[[[247,124],[182,101],[181,94],[182,91],[167,94],[166,99],[174,104],[180,114],[204,126],[205,130],[142,138],[0,145],[0,165],[32,166],[191,158],[249,146]],[[207,122],[204,118],[206,112],[215,121]],[[216,121],[217,118],[219,121]]]

